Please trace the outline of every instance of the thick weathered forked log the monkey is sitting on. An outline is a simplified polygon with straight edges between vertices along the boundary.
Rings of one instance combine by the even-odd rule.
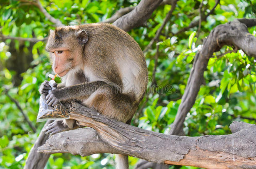
[[[174,136],[147,131],[107,119],[97,111],[75,102],[65,103],[71,119],[90,128],[65,131],[50,136],[39,147],[43,153],[115,153],[135,156],[161,164],[204,168],[256,167],[256,125],[231,124],[230,135]],[[198,160],[193,160],[198,159]]]

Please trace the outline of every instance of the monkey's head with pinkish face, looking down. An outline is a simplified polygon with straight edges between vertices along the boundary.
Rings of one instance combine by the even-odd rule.
[[[60,77],[83,63],[83,48],[88,41],[85,30],[64,26],[50,30],[46,50],[50,53],[52,69]]]

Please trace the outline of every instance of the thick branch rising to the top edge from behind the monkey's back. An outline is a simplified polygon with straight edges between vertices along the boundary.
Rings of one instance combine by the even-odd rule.
[[[128,32],[132,28],[143,25],[162,0],[141,0],[130,13],[116,20],[113,25]]]

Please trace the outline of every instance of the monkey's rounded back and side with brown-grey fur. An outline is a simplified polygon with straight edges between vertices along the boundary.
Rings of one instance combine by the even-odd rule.
[[[122,93],[133,93],[140,102],[146,91],[147,67],[138,43],[110,24],[87,24],[80,28],[88,35],[84,61],[85,67],[90,67],[85,68],[89,81],[107,81],[119,87]]]

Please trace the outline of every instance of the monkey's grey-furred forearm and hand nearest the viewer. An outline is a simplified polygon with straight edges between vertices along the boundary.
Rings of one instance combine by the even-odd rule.
[[[81,83],[64,88],[57,88],[52,90],[46,96],[46,102],[49,106],[55,106],[60,101],[67,101],[71,99],[88,98],[100,86],[106,85],[104,81],[93,81],[89,83]]]

